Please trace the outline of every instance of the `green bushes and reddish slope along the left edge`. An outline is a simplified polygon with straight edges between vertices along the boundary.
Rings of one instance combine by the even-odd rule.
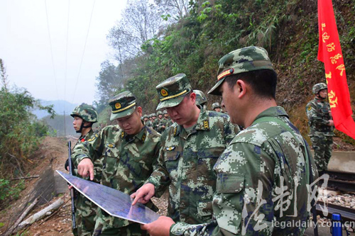
[[[28,164],[38,149],[40,140],[48,135],[45,123],[31,113],[39,108],[54,116],[52,106],[41,106],[26,89],[9,89],[3,61],[0,59],[0,208],[18,198],[23,181],[13,185],[13,176],[25,176]]]

